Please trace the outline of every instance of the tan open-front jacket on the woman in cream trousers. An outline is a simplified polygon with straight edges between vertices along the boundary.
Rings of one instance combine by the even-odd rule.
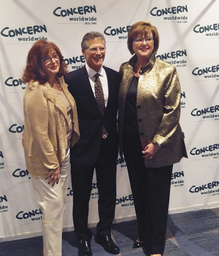
[[[70,147],[79,139],[75,100],[67,89],[63,77],[61,89],[73,112]],[[30,81],[24,92],[24,155],[27,170],[34,177],[45,177],[65,158],[67,149],[67,109],[46,82]]]

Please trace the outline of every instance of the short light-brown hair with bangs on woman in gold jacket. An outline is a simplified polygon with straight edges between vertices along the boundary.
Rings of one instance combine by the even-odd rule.
[[[136,37],[141,34],[141,35],[147,35],[148,32],[152,32],[153,34],[153,39],[154,39],[154,50],[155,52],[158,51],[159,47],[159,34],[158,30],[155,26],[152,26],[149,21],[144,20],[140,22],[136,22],[133,24],[128,31],[128,50],[131,52],[131,54],[134,54],[133,50],[133,41],[136,39]]]

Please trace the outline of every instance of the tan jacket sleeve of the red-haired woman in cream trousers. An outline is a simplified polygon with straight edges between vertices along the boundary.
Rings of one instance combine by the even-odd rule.
[[[32,140],[34,152],[47,169],[55,169],[59,165],[56,152],[48,136],[48,104],[45,87],[30,86],[24,97],[24,119],[29,132],[27,135]],[[28,142],[27,142],[28,143]],[[30,142],[29,142],[30,143]]]

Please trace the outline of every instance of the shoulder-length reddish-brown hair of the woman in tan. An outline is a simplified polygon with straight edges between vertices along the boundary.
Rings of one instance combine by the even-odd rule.
[[[33,80],[38,81],[40,84],[45,84],[48,81],[48,75],[43,70],[42,59],[48,55],[52,48],[58,54],[60,61],[59,73],[56,76],[61,77],[68,72],[59,47],[52,42],[40,39],[33,44],[27,55],[27,66],[22,77],[24,82]]]

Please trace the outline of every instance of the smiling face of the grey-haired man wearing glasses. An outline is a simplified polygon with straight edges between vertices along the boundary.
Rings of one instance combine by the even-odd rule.
[[[88,49],[82,49],[82,53],[88,66],[98,72],[103,64],[106,53],[104,41],[101,38],[94,38],[88,41],[88,45]]]

